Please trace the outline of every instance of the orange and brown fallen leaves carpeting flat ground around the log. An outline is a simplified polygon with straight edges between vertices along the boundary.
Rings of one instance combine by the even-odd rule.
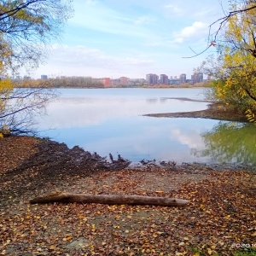
[[[232,255],[234,244],[256,244],[255,172],[125,169],[62,178],[67,192],[170,195],[189,205],[29,205],[45,189],[22,187],[20,197],[19,183],[3,175],[1,188],[14,191],[1,192],[1,255]]]

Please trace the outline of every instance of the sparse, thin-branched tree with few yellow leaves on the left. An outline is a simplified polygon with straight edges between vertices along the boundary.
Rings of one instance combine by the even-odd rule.
[[[72,15],[72,0],[0,1],[0,137],[29,132],[33,115],[54,96],[45,88],[17,89],[9,80],[20,68],[29,71],[47,57]]]

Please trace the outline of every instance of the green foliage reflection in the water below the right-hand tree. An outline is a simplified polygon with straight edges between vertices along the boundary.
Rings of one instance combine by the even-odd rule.
[[[256,133],[252,124],[219,122],[201,133],[205,149],[194,148],[197,157],[210,156],[218,163],[256,166]]]

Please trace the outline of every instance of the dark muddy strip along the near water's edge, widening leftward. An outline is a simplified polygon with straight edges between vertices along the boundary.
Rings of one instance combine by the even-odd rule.
[[[9,200],[15,189],[17,200],[20,196],[41,195],[54,188],[72,186],[76,177],[89,177],[102,172],[173,172],[175,175],[187,173],[191,176],[209,172],[250,171],[254,166],[235,164],[204,164],[200,162],[177,164],[175,161],[141,160],[133,163],[118,156],[107,158],[84,151],[75,146],[68,148],[65,143],[57,143],[38,137],[4,137],[0,140],[0,183],[2,198],[0,204]],[[9,186],[12,183],[12,186]]]

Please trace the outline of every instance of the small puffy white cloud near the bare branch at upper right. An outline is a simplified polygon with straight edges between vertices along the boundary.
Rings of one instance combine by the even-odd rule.
[[[201,38],[205,38],[208,29],[206,23],[195,21],[192,26],[186,26],[180,32],[174,32],[172,43],[181,44],[187,39],[193,41],[200,40]]]

